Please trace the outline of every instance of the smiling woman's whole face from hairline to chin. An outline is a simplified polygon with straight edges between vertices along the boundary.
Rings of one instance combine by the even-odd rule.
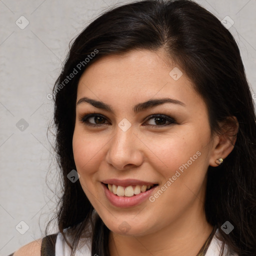
[[[144,235],[204,216],[213,157],[206,105],[160,51],[98,59],[76,102],[79,181],[110,230]]]

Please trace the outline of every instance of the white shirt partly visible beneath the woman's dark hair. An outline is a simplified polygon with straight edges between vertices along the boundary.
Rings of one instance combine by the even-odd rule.
[[[207,252],[205,256],[218,256],[220,254],[220,248],[222,245],[222,241],[220,241],[216,234],[218,232],[218,229],[216,230],[216,233],[214,234],[209,247],[207,249]],[[80,245],[80,246],[79,246]],[[238,256],[237,254],[228,254],[227,252],[227,245],[225,244],[224,247],[224,254],[225,256]],[[63,236],[61,233],[58,233],[56,238],[56,244],[55,244],[55,256],[70,256],[71,255],[71,249],[65,242]],[[91,256],[91,250],[90,250],[90,241],[84,241],[81,246],[81,241],[78,243],[78,248],[75,251],[75,256]]]

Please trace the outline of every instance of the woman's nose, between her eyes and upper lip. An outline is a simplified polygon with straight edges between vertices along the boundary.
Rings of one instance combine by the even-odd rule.
[[[133,133],[132,126],[123,131],[119,127],[108,144],[106,161],[118,170],[137,167],[143,162],[142,143]]]

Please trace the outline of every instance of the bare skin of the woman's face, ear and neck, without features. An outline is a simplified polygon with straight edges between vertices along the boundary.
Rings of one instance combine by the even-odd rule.
[[[196,255],[213,228],[203,209],[205,175],[208,165],[217,166],[215,159],[224,159],[233,145],[226,136],[211,137],[203,99],[184,71],[178,80],[169,75],[173,67],[164,61],[162,51],[133,50],[98,59],[78,83],[76,102],[89,97],[114,111],[87,102],[77,104],[73,133],[79,181],[111,230],[111,256]],[[132,110],[137,103],[165,97],[184,105],[164,103],[138,113]],[[87,113],[105,119],[97,122],[99,126],[89,126],[81,121]],[[151,114],[164,114],[176,122],[166,125],[167,119],[148,119]],[[118,126],[123,118],[131,124],[127,131]],[[94,117],[87,121],[95,124]],[[200,152],[197,159],[153,202],[146,199],[119,208],[104,194],[101,180],[108,178],[134,178],[157,183],[160,188],[196,152]],[[129,226],[126,230],[119,228],[123,221]]]

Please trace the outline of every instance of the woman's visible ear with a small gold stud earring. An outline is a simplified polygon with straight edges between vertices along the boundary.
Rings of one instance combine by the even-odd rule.
[[[216,167],[215,161],[218,158],[224,159],[233,150],[239,128],[235,116],[229,116],[219,124],[220,134],[215,134],[212,143],[212,152],[209,159],[209,165]]]

